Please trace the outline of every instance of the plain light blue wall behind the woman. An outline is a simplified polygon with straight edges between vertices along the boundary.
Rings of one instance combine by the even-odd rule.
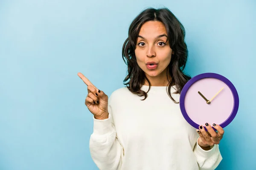
[[[82,72],[107,95],[123,87],[122,45],[147,7],[183,23],[191,76],[227,77],[239,112],[217,170],[256,169],[255,0],[1,0],[0,170],[97,170]]]

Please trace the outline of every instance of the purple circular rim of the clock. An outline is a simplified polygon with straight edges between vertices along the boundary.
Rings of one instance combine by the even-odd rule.
[[[237,111],[238,111],[238,108],[239,108],[239,96],[238,96],[238,92],[237,92],[235,86],[232,84],[232,82],[230,80],[228,80],[227,78],[225,78],[223,75],[219,75],[217,73],[212,73],[212,72],[207,72],[207,73],[202,73],[202,74],[196,75],[193,78],[191,78],[185,84],[185,86],[183,87],[183,89],[180,92],[180,110],[181,110],[181,113],[183,114],[183,117],[186,119],[186,121],[189,124],[191,124],[193,127],[198,129],[198,127],[200,125],[195,123],[194,121],[192,121],[189,118],[189,115],[187,114],[186,109],[185,109],[184,101],[185,101],[186,92],[188,91],[189,87],[192,86],[192,84],[194,84],[196,81],[198,81],[202,78],[217,78],[217,79],[223,81],[225,84],[227,84],[227,86],[229,86],[230,90],[232,91],[233,98],[234,98],[233,110],[232,110],[230,116],[224,122],[219,124],[222,128],[224,128],[228,124],[230,124],[233,121],[233,119],[236,117],[236,114],[237,114]],[[205,130],[207,130],[207,129],[205,128]]]

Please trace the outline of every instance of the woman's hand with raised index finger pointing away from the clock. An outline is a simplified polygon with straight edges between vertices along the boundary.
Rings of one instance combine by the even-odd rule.
[[[108,118],[108,95],[97,89],[81,72],[77,74],[87,85],[85,105],[96,119]]]

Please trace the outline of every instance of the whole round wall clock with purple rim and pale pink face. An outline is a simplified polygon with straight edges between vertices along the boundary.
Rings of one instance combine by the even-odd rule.
[[[238,105],[239,98],[233,84],[215,73],[193,77],[180,93],[181,112],[197,129],[205,123],[226,127],[236,116]]]

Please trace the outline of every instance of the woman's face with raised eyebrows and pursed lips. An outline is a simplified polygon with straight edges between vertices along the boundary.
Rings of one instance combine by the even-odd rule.
[[[150,80],[152,77],[166,78],[168,65],[171,61],[172,49],[167,41],[166,28],[162,22],[148,21],[140,29],[135,55],[137,63]],[[154,61],[157,65],[147,65]],[[155,79],[155,78],[153,78]]]

